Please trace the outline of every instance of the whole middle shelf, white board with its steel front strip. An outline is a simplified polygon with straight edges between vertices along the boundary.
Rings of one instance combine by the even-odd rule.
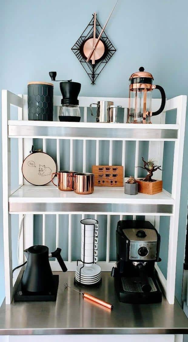
[[[63,192],[53,185],[23,185],[9,197],[9,211],[18,212],[97,212],[173,213],[174,200],[165,192],[155,195],[125,195],[124,187],[95,187],[91,195]]]

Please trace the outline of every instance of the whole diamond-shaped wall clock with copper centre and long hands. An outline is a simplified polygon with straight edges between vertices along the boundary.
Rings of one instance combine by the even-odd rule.
[[[72,47],[72,51],[88,74],[91,84],[95,84],[97,77],[116,52],[114,45],[104,32],[110,16],[103,28],[96,16],[94,13],[88,26]]]

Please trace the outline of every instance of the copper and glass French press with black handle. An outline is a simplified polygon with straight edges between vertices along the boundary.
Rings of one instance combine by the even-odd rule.
[[[151,116],[160,114],[165,106],[166,95],[161,86],[154,86],[152,74],[144,71],[143,67],[129,78],[129,108],[127,123],[151,123]],[[152,112],[152,90],[159,89],[161,93],[161,107]]]

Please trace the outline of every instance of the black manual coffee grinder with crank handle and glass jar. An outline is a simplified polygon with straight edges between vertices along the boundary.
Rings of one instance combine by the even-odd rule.
[[[49,75],[53,82],[59,82],[55,81],[55,77],[57,75],[56,71],[50,71]],[[80,88],[81,83],[72,82],[72,79],[60,81],[60,90],[63,96],[59,111],[60,121],[80,121],[80,109],[78,106],[78,95],[80,92]]]

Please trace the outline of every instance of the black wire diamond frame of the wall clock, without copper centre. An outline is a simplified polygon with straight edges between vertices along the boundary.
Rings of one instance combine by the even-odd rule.
[[[82,64],[84,70],[88,74],[91,84],[95,84],[96,79],[100,75],[101,71],[104,69],[105,65],[110,61],[113,54],[116,52],[114,45],[111,43],[110,39],[106,36],[105,32],[101,36],[101,41],[104,43],[104,55],[95,61],[95,64],[92,65],[91,61],[86,62],[86,56],[83,52],[83,46],[86,40],[93,38],[93,23],[94,23],[94,15],[92,15],[92,19],[89,22],[88,26],[85,28],[82,35],[78,38],[74,46],[72,47],[72,51],[78,58],[78,61]],[[96,38],[98,38],[100,31],[102,30],[102,26],[96,18]]]

